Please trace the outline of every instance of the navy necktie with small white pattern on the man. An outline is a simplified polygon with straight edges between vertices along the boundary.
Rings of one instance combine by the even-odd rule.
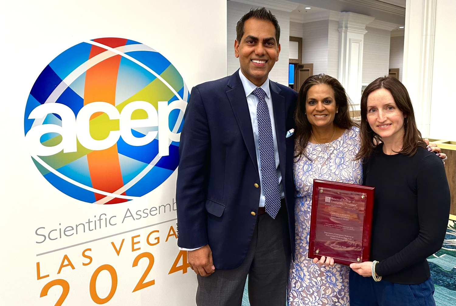
[[[271,117],[264,99],[265,92],[257,87],[253,94],[258,97],[257,120],[259,138],[259,160],[264,192],[266,213],[275,219],[280,209],[279,179],[275,168],[274,139],[272,138]]]

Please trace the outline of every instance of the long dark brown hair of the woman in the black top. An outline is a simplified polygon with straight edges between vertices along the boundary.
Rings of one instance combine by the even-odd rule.
[[[418,147],[426,148],[426,143],[423,141],[423,138],[421,138],[421,133],[416,126],[415,113],[413,112],[413,105],[407,88],[393,76],[381,76],[370,83],[366,89],[364,89],[363,95],[361,96],[361,148],[355,159],[370,157],[373,154],[373,150],[382,142],[382,138],[377,133],[373,132],[367,121],[368,97],[372,92],[381,88],[384,88],[391,93],[396,106],[405,116],[405,133],[400,153],[405,156],[413,156],[418,150]]]

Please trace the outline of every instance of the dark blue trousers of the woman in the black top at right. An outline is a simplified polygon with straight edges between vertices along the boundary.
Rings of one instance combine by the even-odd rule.
[[[434,282],[401,285],[386,280],[374,281],[350,269],[351,306],[435,306]]]

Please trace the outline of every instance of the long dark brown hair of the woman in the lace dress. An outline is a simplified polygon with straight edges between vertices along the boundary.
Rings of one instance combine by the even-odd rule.
[[[350,117],[352,103],[341,83],[337,81],[336,78],[323,73],[315,76],[309,76],[307,80],[302,83],[298,94],[298,101],[296,103],[295,157],[301,158],[302,156],[306,156],[306,158],[309,158],[306,154],[305,148],[309,142],[312,125],[306,115],[306,99],[309,89],[318,84],[326,84],[331,87],[334,92],[334,99],[336,100],[338,109],[338,112],[334,117],[334,124],[339,128],[351,128],[353,126],[358,126],[358,124],[353,122]]]

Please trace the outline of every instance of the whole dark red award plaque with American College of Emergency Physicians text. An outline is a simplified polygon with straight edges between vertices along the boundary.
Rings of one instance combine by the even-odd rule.
[[[314,179],[308,257],[369,260],[374,188]]]

